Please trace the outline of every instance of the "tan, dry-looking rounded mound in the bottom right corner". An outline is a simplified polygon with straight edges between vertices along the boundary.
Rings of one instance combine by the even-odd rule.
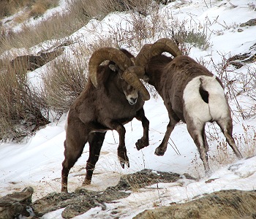
[[[219,191],[185,204],[146,210],[134,219],[255,219],[256,191]]]

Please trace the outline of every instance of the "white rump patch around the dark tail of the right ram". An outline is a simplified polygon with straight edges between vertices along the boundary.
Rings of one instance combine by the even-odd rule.
[[[203,90],[208,91],[208,103],[200,96],[200,85]],[[197,122],[206,123],[225,118],[229,112],[225,93],[215,76],[202,75],[193,78],[184,89],[183,99],[187,115]]]

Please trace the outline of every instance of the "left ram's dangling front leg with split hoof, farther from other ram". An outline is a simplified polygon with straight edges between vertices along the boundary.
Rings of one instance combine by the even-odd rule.
[[[111,121],[108,124],[108,127],[114,129],[118,132],[119,135],[119,145],[117,148],[118,160],[121,164],[121,167],[124,169],[124,165],[126,164],[129,167],[129,158],[127,156],[127,148],[125,147],[125,128],[121,123],[116,123]]]

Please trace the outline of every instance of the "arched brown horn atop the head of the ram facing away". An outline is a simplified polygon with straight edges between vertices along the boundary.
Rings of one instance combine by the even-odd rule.
[[[150,58],[163,52],[170,53],[174,57],[182,55],[181,50],[172,39],[162,38],[154,44],[146,44],[141,48],[140,53],[136,56],[136,66],[145,66]]]

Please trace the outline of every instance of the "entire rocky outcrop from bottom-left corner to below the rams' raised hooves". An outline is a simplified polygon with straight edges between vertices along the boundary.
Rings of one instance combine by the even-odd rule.
[[[26,188],[20,193],[12,193],[1,198],[3,201],[0,201],[0,218],[9,219],[18,215],[30,215],[33,218],[38,218],[61,208],[65,208],[62,212],[63,218],[73,218],[93,207],[99,206],[105,210],[105,203],[129,196],[132,189],[143,188],[155,183],[173,183],[180,178],[180,174],[176,173],[153,172],[150,169],[143,169],[140,172],[122,176],[116,186],[109,187],[105,191],[96,192],[78,188],[73,193],[50,193],[33,203],[31,203],[33,189]]]

